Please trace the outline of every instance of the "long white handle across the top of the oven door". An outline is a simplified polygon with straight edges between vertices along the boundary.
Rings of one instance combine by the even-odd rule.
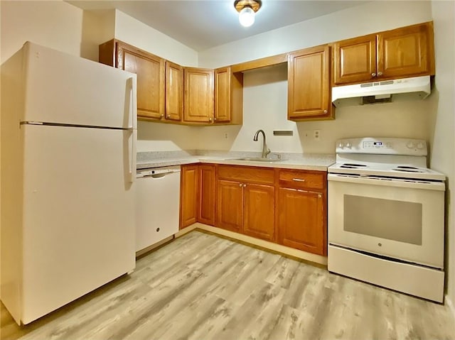
[[[444,191],[446,189],[444,182],[407,180],[405,178],[363,177],[330,173],[327,175],[327,180],[328,182],[346,182],[358,185],[382,185],[385,187],[406,187],[424,190]]]

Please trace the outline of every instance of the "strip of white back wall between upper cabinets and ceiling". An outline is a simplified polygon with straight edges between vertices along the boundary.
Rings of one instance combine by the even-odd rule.
[[[199,65],[232,65],[431,20],[429,1],[372,1],[205,50]]]

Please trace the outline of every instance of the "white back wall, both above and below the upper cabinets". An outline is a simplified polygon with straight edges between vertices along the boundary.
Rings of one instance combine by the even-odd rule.
[[[375,1],[205,50],[199,55],[199,64],[232,65],[431,20],[428,1]],[[293,123],[287,121],[286,68],[257,70],[244,75],[243,125],[203,128],[198,148],[259,150],[260,145],[252,142],[258,128],[266,132],[269,148],[277,152],[334,153],[338,138],[355,136],[428,140],[428,126],[434,125],[429,114],[433,101],[429,98],[419,102],[343,107],[336,109],[334,121]],[[273,136],[274,129],[293,130],[294,136]],[[315,129],[321,130],[320,141],[312,138]],[[228,138],[224,138],[225,133]]]

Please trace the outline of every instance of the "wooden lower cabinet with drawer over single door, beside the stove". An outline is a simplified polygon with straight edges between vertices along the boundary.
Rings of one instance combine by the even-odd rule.
[[[326,172],[279,170],[278,243],[327,256]]]

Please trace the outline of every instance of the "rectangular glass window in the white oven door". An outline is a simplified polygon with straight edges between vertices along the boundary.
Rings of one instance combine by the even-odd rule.
[[[422,204],[344,195],[343,229],[422,245]]]

